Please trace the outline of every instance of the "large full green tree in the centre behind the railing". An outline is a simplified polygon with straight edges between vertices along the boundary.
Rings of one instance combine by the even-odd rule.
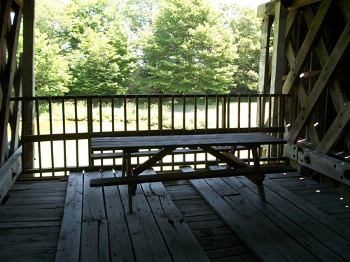
[[[232,43],[209,1],[165,1],[142,50],[148,77],[141,84],[152,93],[228,93],[236,70]]]

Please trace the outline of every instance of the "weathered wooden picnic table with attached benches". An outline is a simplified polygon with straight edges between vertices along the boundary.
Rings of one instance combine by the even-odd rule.
[[[128,185],[129,211],[132,212],[132,195],[136,185],[146,182],[163,182],[171,180],[191,180],[209,177],[228,177],[245,175],[249,180],[258,186],[261,201],[265,201],[263,180],[265,173],[280,173],[290,170],[288,166],[260,166],[258,149],[261,145],[281,145],[286,140],[269,136],[265,133],[222,133],[208,135],[188,136],[132,136],[132,137],[104,137],[92,138],[91,149],[93,151],[122,150],[122,174],[123,177],[109,177],[90,180],[90,187],[105,187],[120,184]],[[230,152],[221,152],[220,147],[230,146]],[[248,165],[245,161],[235,157],[235,149],[244,146],[251,150],[254,166]],[[200,170],[193,173],[182,173],[181,171],[160,173],[156,175],[140,175],[148,168],[169,154],[176,148],[187,147],[189,149],[202,149],[203,152],[213,155],[227,164],[227,170]],[[140,163],[132,169],[132,153],[139,150],[159,151],[151,158]],[[233,168],[233,169],[232,169]],[[126,175],[126,176],[125,176]]]

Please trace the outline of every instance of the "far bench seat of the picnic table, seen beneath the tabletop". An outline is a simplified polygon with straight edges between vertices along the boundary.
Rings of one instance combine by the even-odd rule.
[[[229,152],[231,147],[213,147],[215,150],[218,150],[220,152]],[[236,151],[240,150],[248,150],[244,146],[237,146]],[[152,157],[155,154],[157,154],[159,151],[158,150],[151,150],[151,151],[139,151],[139,152],[134,152],[132,153],[132,157]],[[190,149],[190,148],[184,148],[184,149],[179,149],[179,150],[174,150],[172,154],[195,154],[195,153],[202,153],[203,150],[198,148],[198,149]],[[92,160],[99,160],[99,159],[121,159],[123,158],[123,153],[122,152],[111,152],[111,153],[95,153],[91,154],[91,159]]]

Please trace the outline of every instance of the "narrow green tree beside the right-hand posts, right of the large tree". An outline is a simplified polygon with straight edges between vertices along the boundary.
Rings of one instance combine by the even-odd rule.
[[[248,7],[232,4],[221,8],[237,44],[238,56],[234,63],[238,70],[233,75],[235,87],[230,91],[237,94],[255,92],[258,88],[261,21],[256,18],[255,10]]]

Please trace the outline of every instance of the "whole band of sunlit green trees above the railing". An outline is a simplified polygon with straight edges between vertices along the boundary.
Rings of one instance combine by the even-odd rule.
[[[259,31],[209,0],[36,0],[36,94],[251,92]]]

